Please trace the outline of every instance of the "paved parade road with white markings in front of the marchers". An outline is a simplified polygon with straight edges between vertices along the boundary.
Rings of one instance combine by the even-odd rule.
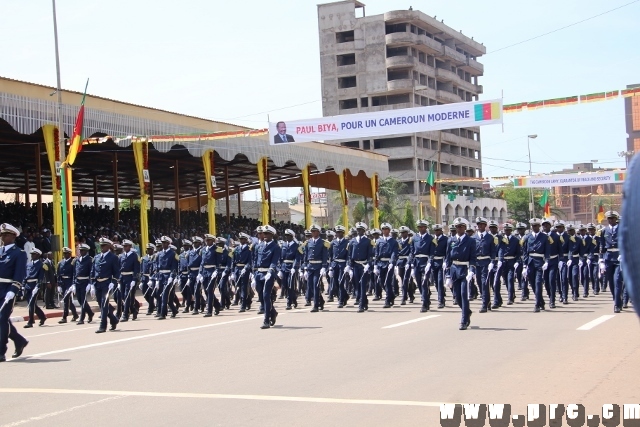
[[[269,330],[255,310],[30,329],[26,357],[0,365],[0,426],[437,426],[445,402],[640,402],[638,319],[613,315],[608,293],[542,313],[475,301],[467,331],[457,307],[280,301]]]

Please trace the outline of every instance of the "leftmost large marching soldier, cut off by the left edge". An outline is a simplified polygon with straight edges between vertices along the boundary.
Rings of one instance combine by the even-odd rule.
[[[0,362],[7,360],[5,354],[9,338],[16,347],[15,353],[11,356],[13,358],[20,357],[29,344],[10,320],[16,295],[22,289],[27,273],[27,254],[15,245],[18,236],[20,232],[14,226],[0,225]]]

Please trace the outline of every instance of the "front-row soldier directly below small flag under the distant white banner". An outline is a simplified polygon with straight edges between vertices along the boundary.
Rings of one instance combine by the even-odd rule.
[[[538,218],[529,220],[531,233],[525,239],[522,248],[522,262],[524,267],[522,274],[528,277],[528,282],[534,284],[536,294],[536,306],[534,313],[544,310],[542,298],[543,272],[549,267],[551,249],[551,237],[540,231],[541,221]]]

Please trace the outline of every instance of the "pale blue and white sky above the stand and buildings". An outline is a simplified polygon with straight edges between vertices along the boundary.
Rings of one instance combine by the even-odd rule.
[[[414,9],[484,43],[481,99],[534,101],[640,83],[640,2],[491,53],[631,0],[369,0],[367,15]],[[109,2],[58,0],[62,86],[92,94],[266,127],[267,114],[322,115],[316,1]],[[55,85],[51,2],[3,2],[0,75]],[[482,129],[484,176],[534,173],[599,160],[624,166],[621,99],[509,114]],[[292,191],[290,195],[295,194]]]

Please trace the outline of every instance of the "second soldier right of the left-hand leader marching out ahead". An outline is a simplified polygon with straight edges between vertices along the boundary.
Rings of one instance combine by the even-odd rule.
[[[309,287],[310,299],[313,299],[312,313],[324,309],[324,298],[320,290],[320,280],[327,271],[327,261],[329,259],[329,242],[320,237],[320,227],[313,224],[311,238],[307,241],[305,251],[305,264],[307,266],[307,286]]]

